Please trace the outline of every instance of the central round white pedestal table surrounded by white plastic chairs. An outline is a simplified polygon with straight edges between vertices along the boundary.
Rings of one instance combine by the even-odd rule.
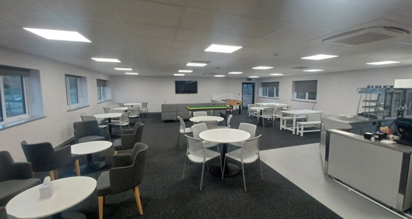
[[[222,146],[222,152],[221,152],[222,154],[221,159],[223,161],[225,159],[225,154],[227,152],[228,143],[242,142],[244,140],[247,140],[248,138],[251,138],[251,134],[247,131],[243,131],[240,129],[209,129],[206,131],[202,131],[199,134],[199,138],[210,141],[210,142],[222,143],[223,146]],[[237,175],[239,170],[240,168],[238,165],[226,162],[225,173],[224,173],[225,177],[231,177],[231,176]],[[210,168],[210,172],[213,175],[221,177],[222,173],[220,171],[220,164],[212,165]]]

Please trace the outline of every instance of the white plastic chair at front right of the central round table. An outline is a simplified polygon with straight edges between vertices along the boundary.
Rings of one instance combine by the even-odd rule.
[[[242,164],[242,174],[243,174],[243,185],[244,185],[244,192],[247,192],[246,189],[246,180],[244,178],[244,164],[251,164],[255,161],[259,161],[260,166],[260,174],[262,175],[263,181],[263,172],[262,172],[262,164],[260,162],[260,154],[259,154],[259,143],[260,143],[260,136],[255,138],[249,138],[245,140],[241,149],[231,151],[225,154],[225,162],[223,163],[223,172],[225,172],[225,164],[227,157],[236,160]],[[222,175],[222,179],[223,179]]]

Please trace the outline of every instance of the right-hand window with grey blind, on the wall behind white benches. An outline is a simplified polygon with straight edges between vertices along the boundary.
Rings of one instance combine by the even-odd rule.
[[[316,101],[317,80],[313,81],[293,81],[292,99],[297,101]]]

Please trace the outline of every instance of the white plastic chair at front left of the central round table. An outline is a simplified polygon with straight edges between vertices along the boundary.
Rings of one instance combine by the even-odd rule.
[[[198,138],[192,138],[187,135],[185,136],[187,139],[187,151],[186,151],[186,158],[185,158],[185,166],[183,166],[182,180],[185,179],[185,168],[186,168],[187,159],[189,159],[191,162],[194,162],[194,163],[203,164],[202,175],[201,175],[201,188],[200,188],[200,190],[202,191],[203,173],[205,172],[205,163],[211,159],[214,159],[215,157],[220,158],[220,153],[217,153],[216,151],[211,151],[209,149],[205,149],[205,146],[203,146],[202,140]],[[222,159],[219,159],[219,160],[220,160],[220,170],[222,170]],[[223,175],[222,175],[222,178],[223,178]]]

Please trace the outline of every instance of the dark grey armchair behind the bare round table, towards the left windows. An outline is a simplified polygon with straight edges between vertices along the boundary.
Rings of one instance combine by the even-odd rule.
[[[76,144],[82,142],[106,140],[106,138],[100,136],[100,128],[97,120],[76,122],[73,123],[73,128],[74,142]]]

